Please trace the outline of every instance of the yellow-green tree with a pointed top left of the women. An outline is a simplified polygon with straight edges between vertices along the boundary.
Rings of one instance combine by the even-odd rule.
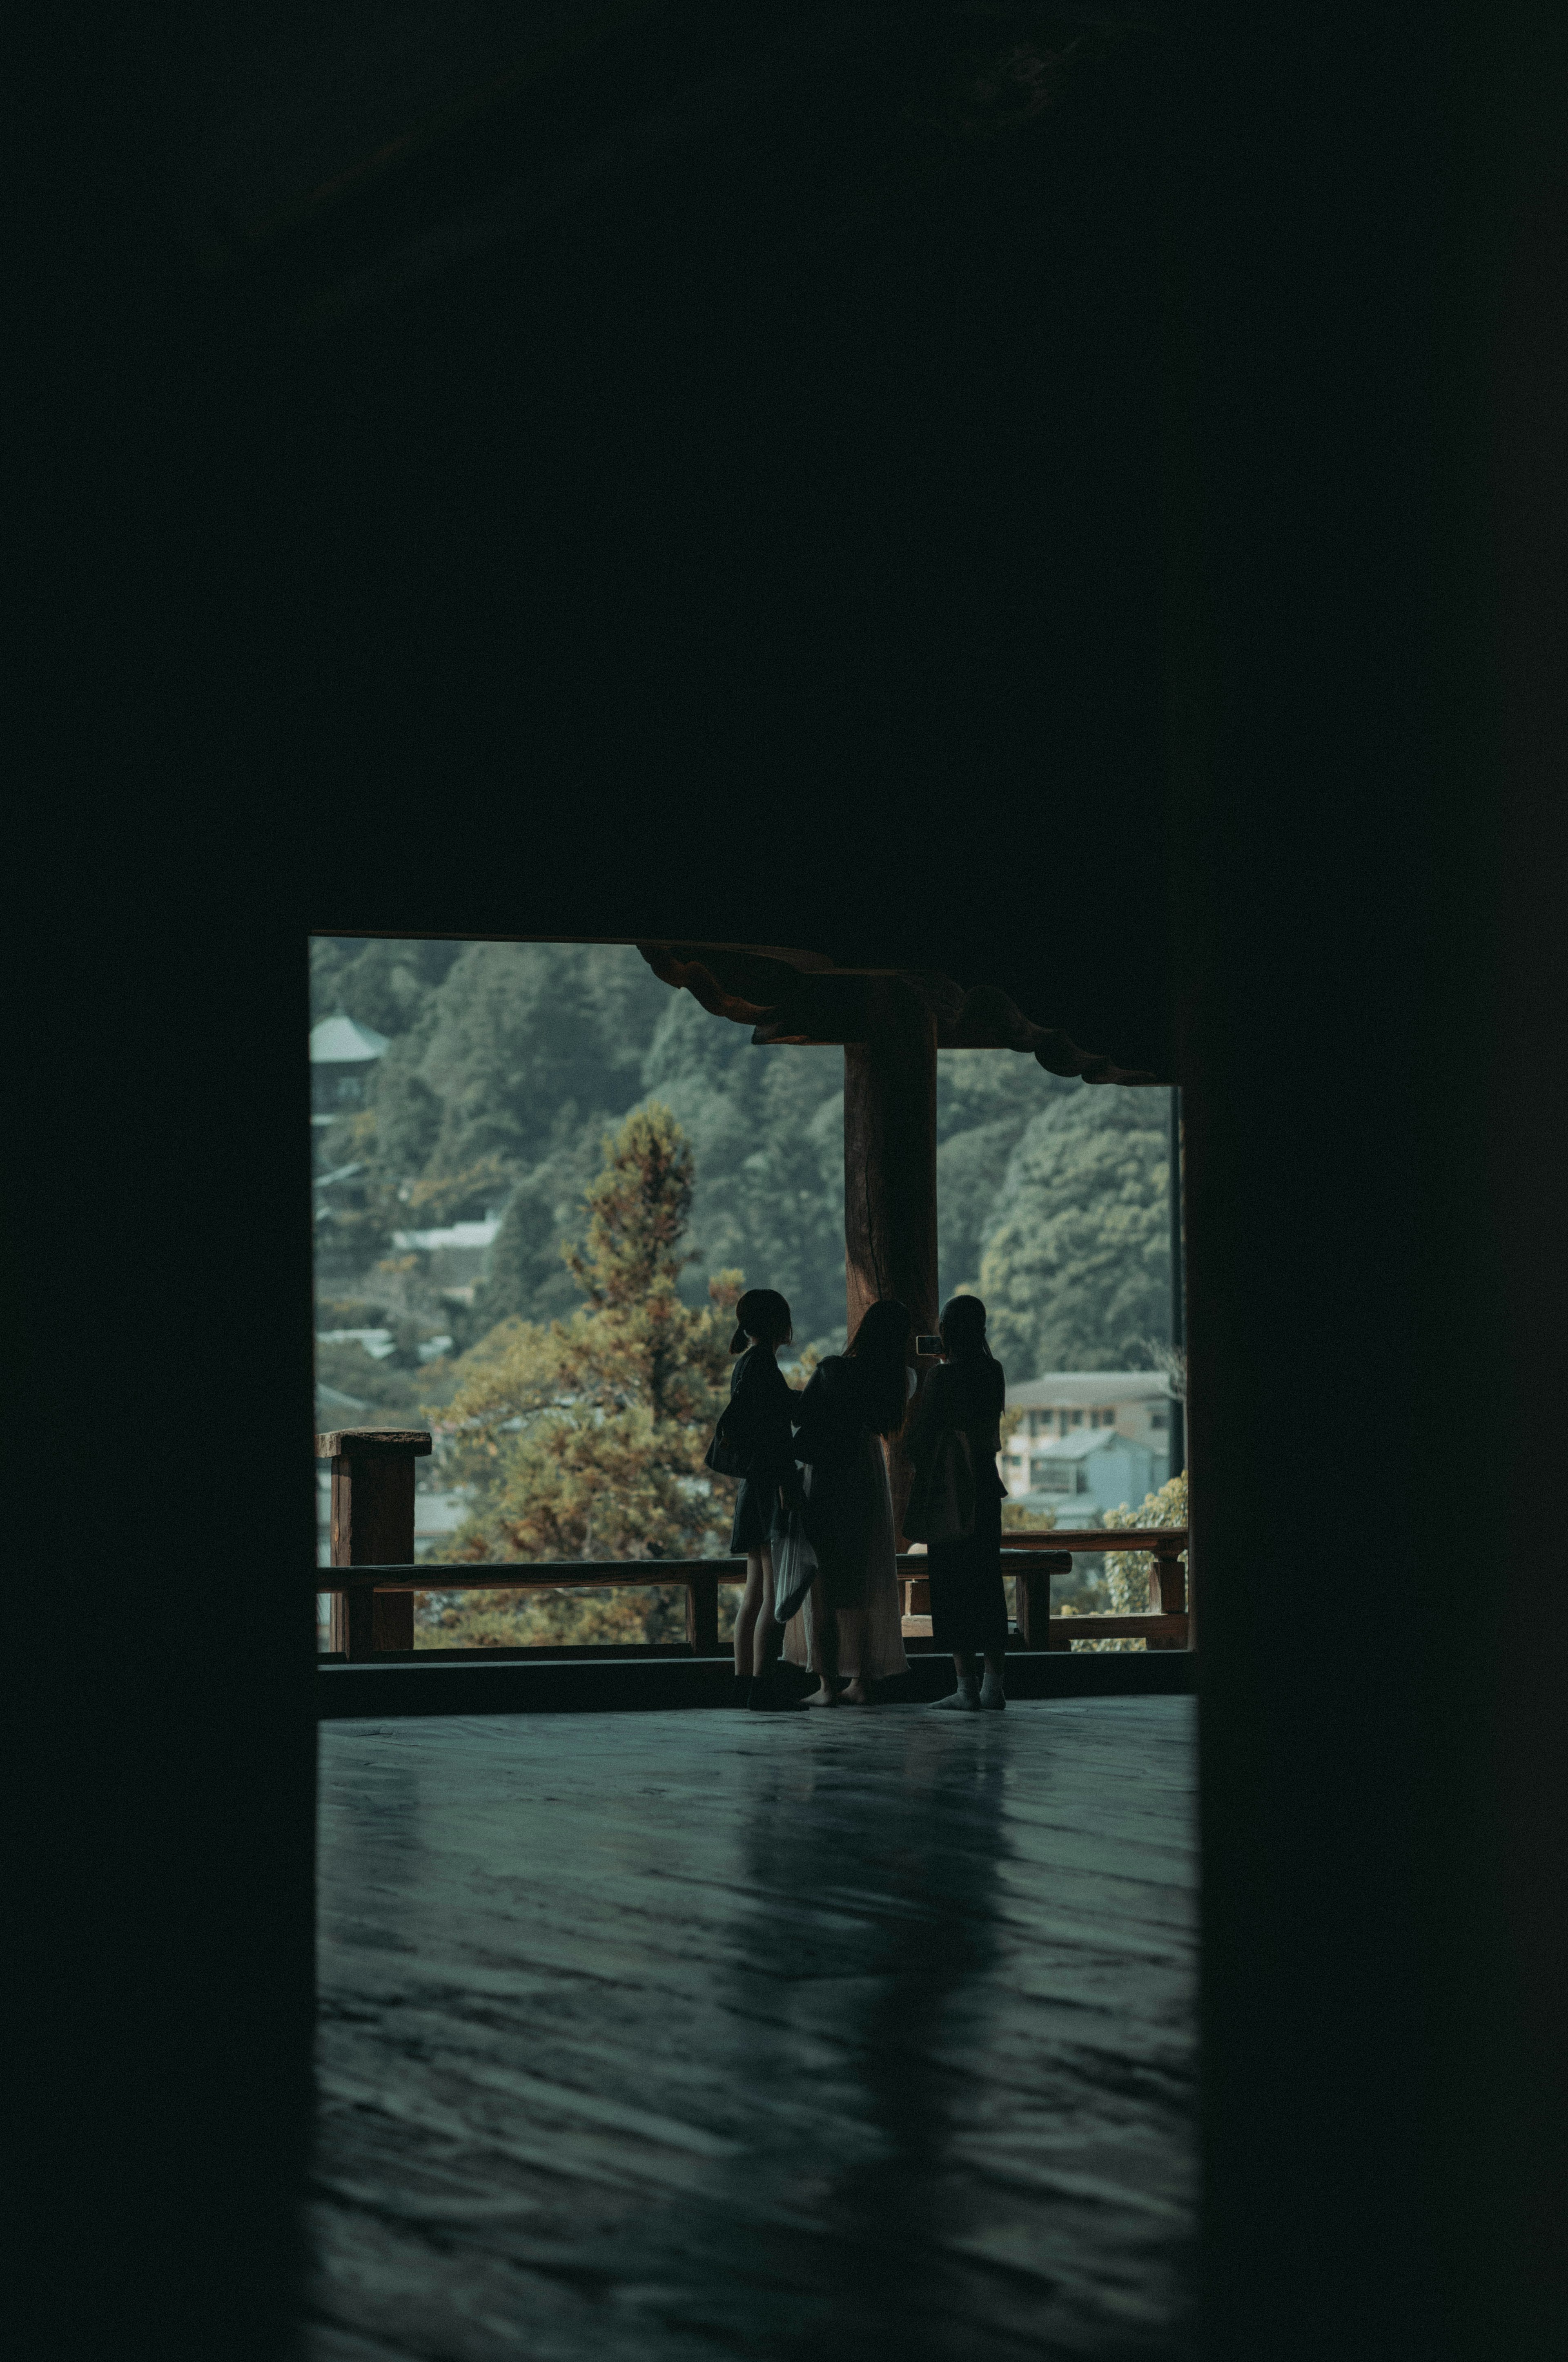
[[[586,1252],[567,1266],[586,1297],[571,1320],[501,1323],[463,1356],[432,1405],[444,1462],[477,1505],[449,1557],[659,1559],[727,1545],[730,1486],[701,1457],[730,1375],[741,1273],[678,1294],[692,1153],[668,1108],[647,1105],[605,1141],[588,1188]]]

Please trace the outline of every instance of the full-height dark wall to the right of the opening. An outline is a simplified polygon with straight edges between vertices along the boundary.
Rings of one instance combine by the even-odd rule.
[[[1237,2362],[1568,2338],[1563,90],[1525,9],[1219,9],[1174,92],[1207,2336]]]

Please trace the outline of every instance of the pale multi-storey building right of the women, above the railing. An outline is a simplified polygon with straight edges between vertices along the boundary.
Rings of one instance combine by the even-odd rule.
[[[1171,1474],[1171,1389],[1157,1370],[1053,1370],[1008,1386],[1008,1410],[1023,1412],[1001,1455],[1008,1495],[1063,1526],[1136,1509]]]

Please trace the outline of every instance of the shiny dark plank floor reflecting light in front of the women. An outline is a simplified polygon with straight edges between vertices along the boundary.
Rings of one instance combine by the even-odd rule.
[[[326,1724],[312,2362],[1183,2355],[1193,1712]]]

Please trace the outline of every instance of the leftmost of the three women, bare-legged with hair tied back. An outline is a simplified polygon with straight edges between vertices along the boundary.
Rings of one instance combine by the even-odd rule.
[[[801,1415],[801,1396],[779,1370],[779,1346],[793,1339],[789,1304],[777,1287],[749,1287],[734,1306],[737,1353],[730,1372],[730,1410],[725,1424],[746,1457],[746,1474],[734,1493],[730,1554],[746,1559],[746,1590],[734,1611],[734,1703],[779,1708],[772,1668],[784,1639],[772,1613],[772,1535],[779,1523],[779,1493],[793,1498],[796,1464],[791,1457],[791,1420]]]

